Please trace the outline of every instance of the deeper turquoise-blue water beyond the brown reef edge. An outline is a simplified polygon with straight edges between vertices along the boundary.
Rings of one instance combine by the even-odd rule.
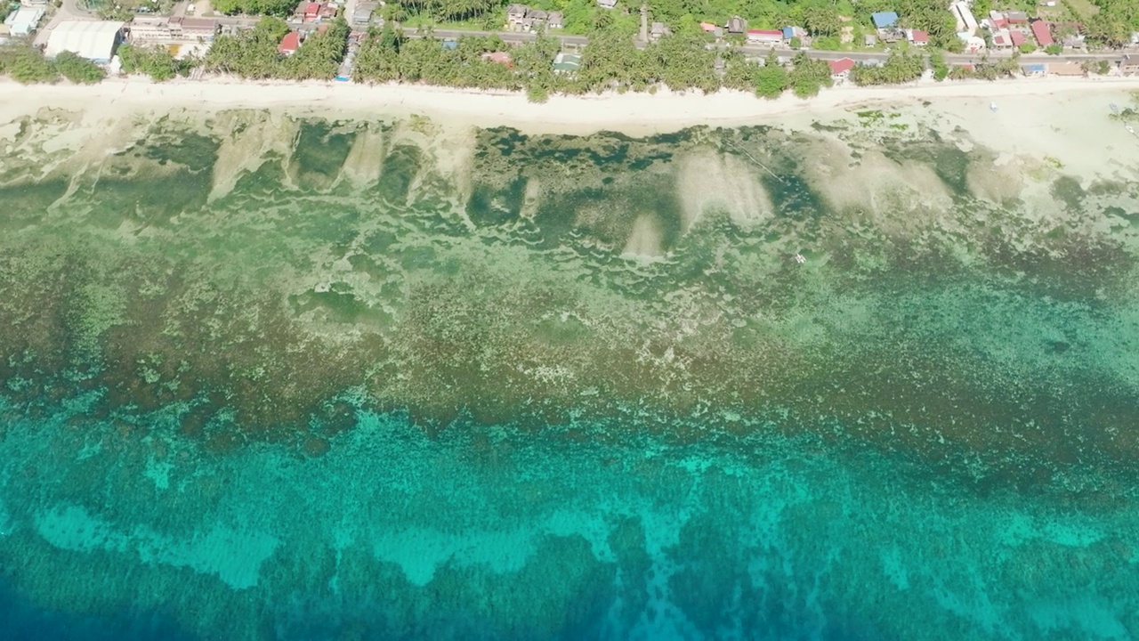
[[[210,455],[171,413],[6,412],[18,639],[1129,639],[1130,497],[981,495],[810,439],[361,413],[323,456]],[[768,436],[763,436],[768,435]],[[603,444],[601,441],[607,441]]]

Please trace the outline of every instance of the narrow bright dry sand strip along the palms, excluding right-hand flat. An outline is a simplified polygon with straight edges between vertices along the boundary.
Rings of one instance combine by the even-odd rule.
[[[401,116],[420,114],[480,127],[509,125],[527,132],[589,133],[615,130],[652,133],[697,124],[741,125],[771,116],[811,117],[854,105],[916,105],[961,100],[990,102],[1049,95],[1079,96],[1139,90],[1139,78],[1033,78],[1015,81],[920,82],[903,87],[838,87],[802,100],[785,95],[764,100],[740,91],[714,95],[624,94],[555,96],[534,104],[517,92],[464,90],[431,86],[361,86],[342,82],[248,82],[238,80],[153,83],[144,78],[112,79],[95,86],[19,86],[0,81],[0,120],[35,113],[41,107],[85,109],[101,103],[113,109],[138,111],[297,108],[331,116]],[[782,120],[782,119],[780,119]]]

